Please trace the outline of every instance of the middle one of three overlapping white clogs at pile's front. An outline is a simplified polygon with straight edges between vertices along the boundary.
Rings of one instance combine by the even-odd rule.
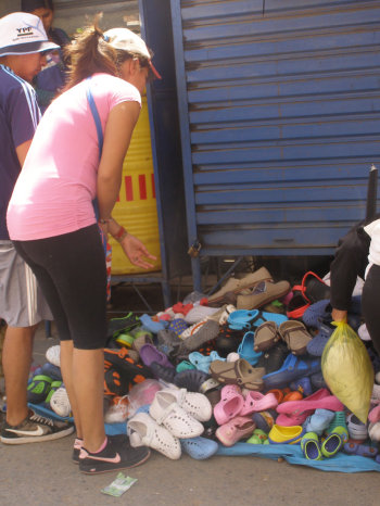
[[[204,431],[204,427],[177,402],[173,395],[161,395],[157,392],[149,408],[149,414],[159,425],[163,425],[173,435],[180,439],[197,438]]]

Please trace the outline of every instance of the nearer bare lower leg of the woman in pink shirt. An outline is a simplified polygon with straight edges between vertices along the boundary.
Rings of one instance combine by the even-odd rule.
[[[84,446],[89,452],[97,452],[105,439],[103,350],[73,350],[73,387]]]

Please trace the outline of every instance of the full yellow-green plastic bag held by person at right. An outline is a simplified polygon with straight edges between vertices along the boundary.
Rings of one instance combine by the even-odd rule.
[[[344,321],[328,340],[322,357],[324,379],[330,391],[366,423],[373,388],[373,368],[366,346]]]

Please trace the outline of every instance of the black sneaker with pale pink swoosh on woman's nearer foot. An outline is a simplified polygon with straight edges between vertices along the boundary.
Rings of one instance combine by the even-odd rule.
[[[84,447],[80,450],[79,470],[86,475],[98,475],[128,469],[143,464],[150,454],[145,446],[132,448],[126,435],[118,441],[107,438],[105,448],[99,453],[90,453]]]

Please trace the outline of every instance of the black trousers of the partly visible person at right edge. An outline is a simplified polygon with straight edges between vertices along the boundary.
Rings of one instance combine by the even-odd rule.
[[[362,313],[369,336],[380,356],[380,266],[372,265],[367,274],[362,294]]]

